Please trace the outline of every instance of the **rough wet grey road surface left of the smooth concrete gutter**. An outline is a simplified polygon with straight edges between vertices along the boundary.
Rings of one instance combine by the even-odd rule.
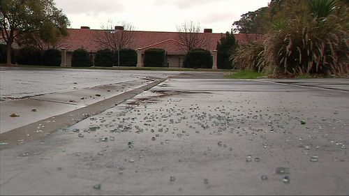
[[[179,72],[0,67],[0,101],[64,93]]]

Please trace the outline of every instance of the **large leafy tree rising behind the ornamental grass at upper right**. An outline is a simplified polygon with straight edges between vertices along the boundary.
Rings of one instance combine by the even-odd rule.
[[[333,6],[334,3],[338,6]],[[313,13],[316,8],[320,11],[320,13],[314,13],[317,17],[334,13],[334,15],[341,15],[339,17],[347,18],[348,5],[348,0],[271,0],[267,7],[245,13],[232,25],[235,27],[235,32],[265,34],[275,27],[281,29],[280,27],[288,26],[290,20],[297,18],[313,20],[313,15],[309,13]]]

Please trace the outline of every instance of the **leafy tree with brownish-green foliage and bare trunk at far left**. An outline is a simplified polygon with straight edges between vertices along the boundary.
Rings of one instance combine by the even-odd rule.
[[[61,25],[58,25],[61,24]],[[61,28],[68,26],[68,19],[61,10],[55,7],[53,0],[1,0],[0,1],[0,31],[7,45],[7,64],[10,65],[11,47],[20,38],[26,38],[31,33],[40,33],[48,27]],[[52,36],[54,37],[54,36]],[[51,38],[52,38],[51,37]],[[50,40],[51,38],[47,38]],[[45,39],[44,39],[45,40]]]

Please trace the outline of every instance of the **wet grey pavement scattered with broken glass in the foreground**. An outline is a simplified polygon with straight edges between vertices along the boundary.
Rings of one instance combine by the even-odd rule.
[[[348,80],[194,78],[0,151],[0,194],[349,194]]]

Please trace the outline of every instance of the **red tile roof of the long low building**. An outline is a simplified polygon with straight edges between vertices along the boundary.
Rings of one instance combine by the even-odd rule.
[[[63,40],[64,47],[68,51],[74,51],[84,48],[87,51],[97,52],[103,49],[96,41],[98,34],[104,33],[105,30],[94,29],[68,29],[68,37]],[[217,43],[221,40],[225,33],[205,33],[208,36],[210,45],[206,50],[216,50]],[[257,38],[258,35],[235,34],[235,38],[239,43],[246,43],[248,40]],[[185,54],[184,47],[179,41],[177,32],[160,32],[160,31],[133,31],[133,42],[128,46],[134,50],[138,48],[162,48],[168,54]]]

